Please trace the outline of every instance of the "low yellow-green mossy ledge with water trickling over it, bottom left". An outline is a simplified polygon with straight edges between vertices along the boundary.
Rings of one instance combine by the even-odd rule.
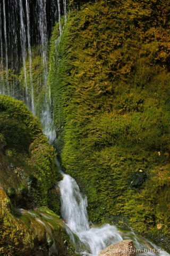
[[[55,239],[58,255],[74,256],[75,248],[66,234],[64,222],[47,207],[35,211],[14,211],[10,199],[0,189],[0,252],[2,255],[49,255]],[[41,249],[40,249],[41,248]]]

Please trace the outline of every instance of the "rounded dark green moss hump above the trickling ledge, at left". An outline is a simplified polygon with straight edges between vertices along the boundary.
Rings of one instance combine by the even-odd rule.
[[[19,196],[29,189],[28,196],[32,195],[33,202],[57,204],[55,208],[59,212],[60,204],[55,202],[55,197],[50,201],[49,191],[61,175],[55,165],[54,148],[48,144],[37,118],[23,102],[1,95],[0,119],[2,188],[7,191],[13,187]]]

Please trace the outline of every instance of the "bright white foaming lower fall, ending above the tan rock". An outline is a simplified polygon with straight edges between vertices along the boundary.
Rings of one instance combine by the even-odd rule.
[[[63,180],[59,182],[61,192],[61,213],[67,226],[78,235],[86,250],[80,246],[79,253],[83,255],[98,256],[98,252],[112,243],[122,240],[117,228],[109,224],[101,227],[89,226],[87,214],[87,198],[80,193],[76,181],[69,175],[63,174]],[[83,251],[82,251],[83,250]]]

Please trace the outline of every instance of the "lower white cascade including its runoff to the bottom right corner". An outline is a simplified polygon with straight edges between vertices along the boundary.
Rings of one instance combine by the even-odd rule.
[[[63,174],[63,173],[62,173]],[[98,256],[100,250],[108,245],[118,243],[122,239],[133,239],[137,252],[146,256],[169,256],[159,246],[146,238],[136,235],[133,231],[118,231],[115,226],[105,224],[100,227],[89,226],[87,214],[87,198],[80,193],[77,182],[69,175],[63,174],[63,180],[58,183],[61,193],[61,213],[67,226],[76,234],[81,244],[77,247],[80,254]],[[73,238],[72,233],[68,233]],[[74,239],[73,239],[73,242]]]

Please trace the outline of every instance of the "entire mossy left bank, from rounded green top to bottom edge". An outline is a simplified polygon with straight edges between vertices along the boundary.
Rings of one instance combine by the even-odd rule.
[[[60,214],[60,193],[55,186],[61,179],[55,165],[55,150],[37,118],[23,102],[0,95],[0,252],[3,255],[49,254],[47,229],[41,223],[36,224],[36,220],[28,223],[27,219],[20,219],[21,214],[15,211],[37,207],[43,207],[49,219],[57,220],[56,225],[60,223],[59,226],[47,223],[48,230],[51,228],[55,234],[59,255],[74,255],[63,222],[56,215]],[[40,214],[37,218],[43,220]]]

